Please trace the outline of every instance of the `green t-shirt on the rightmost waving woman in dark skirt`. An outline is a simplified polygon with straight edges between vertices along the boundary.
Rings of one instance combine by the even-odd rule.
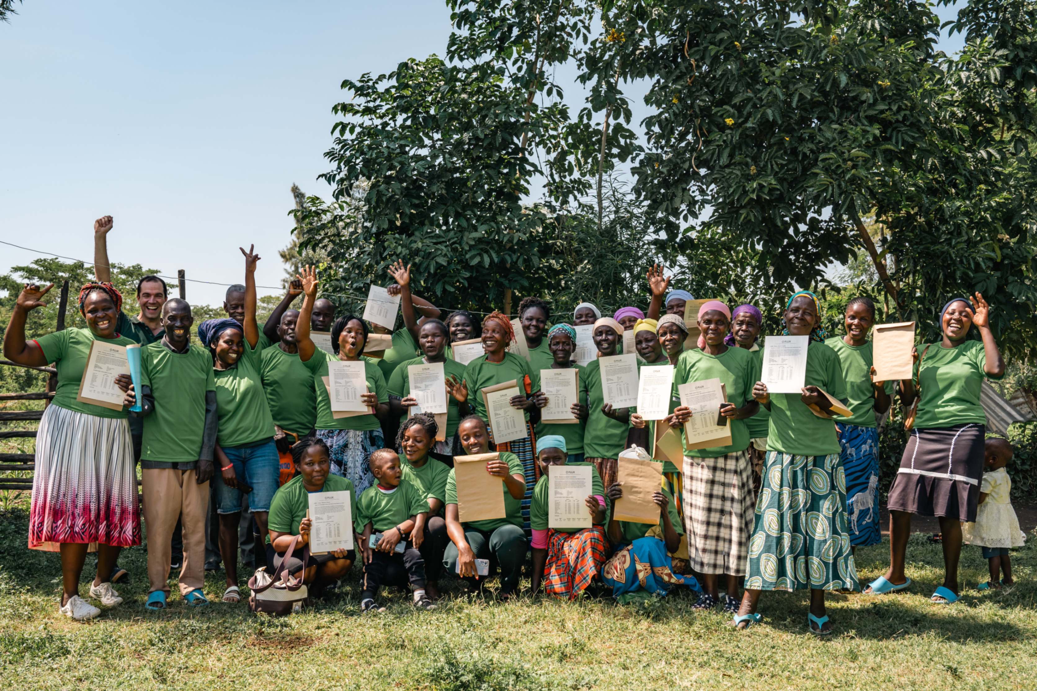
[[[925,344],[918,347],[919,357]],[[986,424],[986,413],[979,403],[983,379],[998,380],[983,371],[986,352],[983,342],[966,340],[957,348],[932,343],[921,359],[922,399],[918,403],[915,426],[953,427],[957,424]],[[915,366],[916,377],[919,365]]]

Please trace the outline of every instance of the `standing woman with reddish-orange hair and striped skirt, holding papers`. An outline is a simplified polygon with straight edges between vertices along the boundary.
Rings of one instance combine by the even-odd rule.
[[[482,389],[496,384],[514,382],[518,394],[511,397],[511,406],[525,411],[526,436],[505,443],[496,443],[498,451],[510,451],[522,461],[526,475],[526,496],[522,500],[523,528],[527,534],[529,528],[529,503],[533,497],[533,488],[540,473],[534,455],[535,440],[533,424],[540,419],[540,410],[533,403],[530,394],[540,389],[539,376],[530,370],[526,358],[507,352],[507,347],[514,339],[514,330],[507,316],[500,312],[487,314],[482,321],[482,350],[484,355],[468,363],[465,368],[465,379],[457,381],[453,377],[447,380],[447,392],[458,403],[466,400],[472,407],[472,412],[486,422],[493,439],[494,430],[489,423],[489,414],[482,399]],[[530,414],[533,415],[532,423]]]

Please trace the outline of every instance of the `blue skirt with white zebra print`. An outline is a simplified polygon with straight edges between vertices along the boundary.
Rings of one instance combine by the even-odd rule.
[[[882,542],[878,525],[878,430],[836,422],[839,454],[846,472],[849,544],[868,547]]]

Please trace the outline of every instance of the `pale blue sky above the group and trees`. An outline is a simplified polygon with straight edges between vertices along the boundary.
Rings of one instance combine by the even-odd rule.
[[[231,283],[255,243],[262,285],[283,275],[291,184],[328,195],[341,81],[443,55],[450,32],[439,0],[17,8],[0,24],[0,239],[90,260],[110,214],[113,261]],[[0,245],[0,273],[38,255]],[[188,300],[223,288],[189,284]]]

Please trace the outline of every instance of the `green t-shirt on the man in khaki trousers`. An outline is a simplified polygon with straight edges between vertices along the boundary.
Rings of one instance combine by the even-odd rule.
[[[216,391],[213,356],[200,346],[174,353],[162,342],[140,349],[140,383],[155,410],[144,418],[143,461],[198,461],[205,427],[205,392]]]

